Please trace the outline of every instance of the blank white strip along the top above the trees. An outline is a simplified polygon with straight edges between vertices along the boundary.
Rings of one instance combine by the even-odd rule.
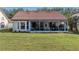
[[[1,7],[79,7],[79,0],[0,0]]]

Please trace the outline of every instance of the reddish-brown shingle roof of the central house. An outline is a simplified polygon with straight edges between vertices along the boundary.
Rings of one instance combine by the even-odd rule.
[[[12,20],[66,20],[66,17],[56,11],[18,11]]]

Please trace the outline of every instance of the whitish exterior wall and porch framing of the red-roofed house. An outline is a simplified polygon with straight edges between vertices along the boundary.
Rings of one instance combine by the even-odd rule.
[[[25,22],[25,29],[24,30],[21,29],[21,22]],[[29,29],[27,29],[27,22],[28,22],[28,28]],[[33,21],[14,21],[13,22],[13,31],[14,32],[15,31],[16,32],[19,32],[19,31],[24,31],[24,32],[37,32],[37,31],[31,31],[31,28],[32,28],[31,27],[32,26],[31,22],[33,22]],[[61,22],[67,23],[67,21],[43,21],[43,22],[57,22],[56,23],[57,26],[59,26],[59,24]],[[65,25],[64,29],[66,29],[67,27],[68,27],[68,23],[67,23],[67,25]],[[64,30],[64,31],[38,31],[38,32],[68,32],[68,31]]]

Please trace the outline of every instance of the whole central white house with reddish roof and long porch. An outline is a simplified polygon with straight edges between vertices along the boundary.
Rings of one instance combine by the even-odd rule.
[[[57,11],[18,11],[12,18],[16,32],[68,32],[68,21]]]

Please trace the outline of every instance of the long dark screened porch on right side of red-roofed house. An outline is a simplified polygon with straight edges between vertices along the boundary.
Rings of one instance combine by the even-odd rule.
[[[68,31],[67,21],[31,21],[31,31]]]

